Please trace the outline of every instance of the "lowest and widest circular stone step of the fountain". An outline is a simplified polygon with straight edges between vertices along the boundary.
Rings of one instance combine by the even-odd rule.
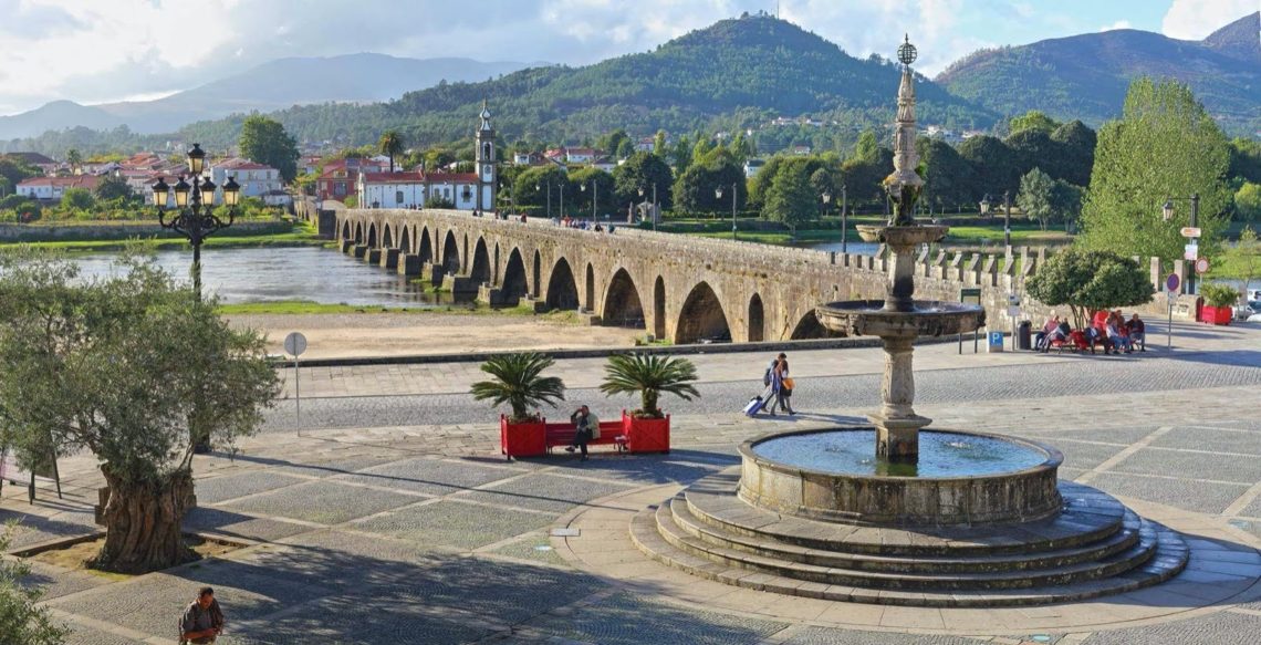
[[[1150,538],[1150,553],[1142,564],[1120,574],[1082,582],[1050,583],[1033,588],[977,588],[977,589],[897,589],[865,588],[852,584],[805,582],[774,573],[752,571],[744,567],[721,564],[687,553],[672,545],[662,535],[658,507],[641,511],[630,521],[632,541],[648,557],[694,576],[744,587],[792,596],[823,598],[844,602],[868,602],[919,607],[1004,607],[1045,605],[1097,598],[1125,593],[1164,582],[1178,574],[1185,565],[1189,549],[1182,538],[1164,526],[1141,520],[1140,533]],[[667,511],[663,519],[670,520]],[[1140,545],[1142,543],[1140,541]],[[1135,545],[1134,548],[1140,548]],[[1132,549],[1131,549],[1132,550]],[[1124,559],[1124,554],[1108,559]]]

